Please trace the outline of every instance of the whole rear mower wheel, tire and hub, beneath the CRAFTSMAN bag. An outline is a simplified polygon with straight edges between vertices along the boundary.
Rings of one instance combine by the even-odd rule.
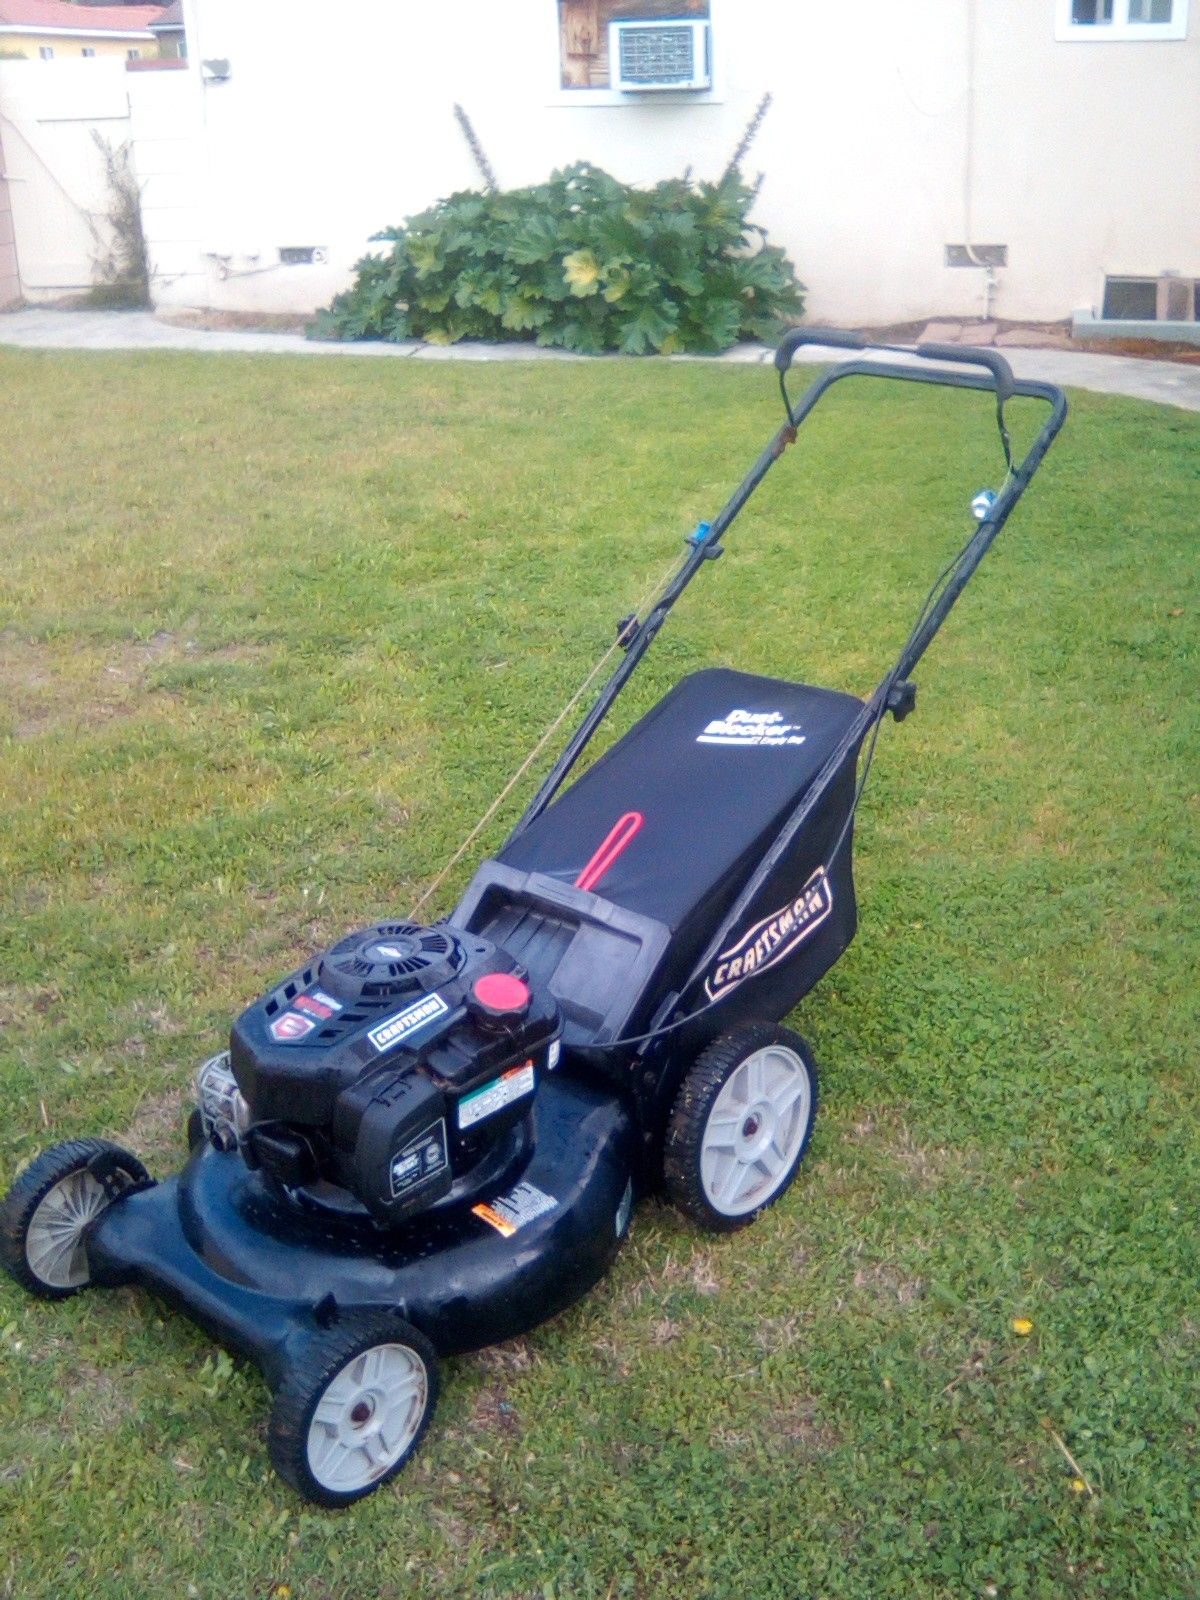
[[[749,1022],[714,1038],[667,1122],[667,1195],[701,1227],[731,1234],[782,1195],[813,1138],[813,1053],[787,1027]]]

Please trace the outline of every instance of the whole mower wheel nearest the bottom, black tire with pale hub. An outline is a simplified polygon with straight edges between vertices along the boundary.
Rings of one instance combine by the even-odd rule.
[[[411,1323],[387,1312],[347,1315],[304,1346],[278,1386],[270,1462],[314,1504],[350,1506],[405,1466],[440,1387],[437,1352]]]

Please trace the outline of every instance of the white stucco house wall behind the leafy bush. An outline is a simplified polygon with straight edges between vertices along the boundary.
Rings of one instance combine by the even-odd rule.
[[[1056,42],[1054,0],[712,0],[717,93],[627,104],[557,88],[555,0],[186,10],[189,70],[122,85],[163,306],[328,301],[371,232],[477,182],[456,99],[506,186],[579,158],[650,182],[715,176],[765,90],[755,216],[813,320],[978,314],[982,274],[942,264],[968,226],[1008,245],[998,317],[1067,317],[1106,272],[1200,277],[1200,0],[1187,40],[1126,45]],[[213,58],[227,82],[203,82]],[[0,114],[45,70],[0,66]],[[286,245],[328,261],[280,267]]]

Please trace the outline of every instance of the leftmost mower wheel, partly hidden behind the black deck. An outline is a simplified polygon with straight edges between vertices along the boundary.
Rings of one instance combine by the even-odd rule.
[[[0,1262],[42,1299],[78,1294],[91,1282],[83,1230],[126,1189],[149,1181],[138,1157],[107,1139],[51,1144],[0,1206]]]

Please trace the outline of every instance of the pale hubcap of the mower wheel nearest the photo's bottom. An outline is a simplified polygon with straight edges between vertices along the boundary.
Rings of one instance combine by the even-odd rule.
[[[309,1470],[325,1490],[350,1493],[381,1478],[416,1438],[429,1374],[406,1344],[373,1344],[347,1362],[317,1402]]]

